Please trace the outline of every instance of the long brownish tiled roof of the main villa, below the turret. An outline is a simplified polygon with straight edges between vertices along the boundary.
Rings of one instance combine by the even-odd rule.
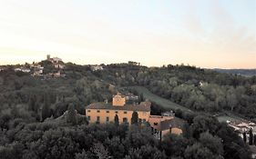
[[[110,109],[110,110],[128,110],[150,112],[150,104],[125,104],[124,106],[113,106],[106,103],[89,104],[86,109]]]

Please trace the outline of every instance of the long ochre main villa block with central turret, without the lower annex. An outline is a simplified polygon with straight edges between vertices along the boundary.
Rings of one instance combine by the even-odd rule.
[[[130,124],[133,112],[137,112],[139,122],[146,123],[150,116],[150,105],[149,102],[126,104],[126,97],[116,94],[113,96],[112,104],[108,102],[89,104],[86,107],[86,115],[89,123],[106,124],[114,122],[115,116],[118,114],[120,124]]]

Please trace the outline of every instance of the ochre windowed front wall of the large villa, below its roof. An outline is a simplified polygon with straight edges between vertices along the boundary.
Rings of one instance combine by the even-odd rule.
[[[89,110],[90,112],[88,112]],[[109,111],[109,113],[107,113],[107,111]],[[97,109],[87,109],[86,115],[90,116],[89,123],[96,123],[97,116],[99,116],[99,123],[106,124],[107,116],[109,117],[109,122],[114,122],[116,111],[118,111],[119,124],[123,123],[124,117],[128,118],[128,123],[130,124],[133,111],[100,109],[99,113],[97,113]],[[127,114],[124,114],[124,112],[127,112]],[[138,118],[142,121],[145,119],[148,122],[149,115],[150,112],[138,112]]]

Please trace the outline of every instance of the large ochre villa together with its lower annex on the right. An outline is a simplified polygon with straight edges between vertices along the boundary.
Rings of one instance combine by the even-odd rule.
[[[138,113],[138,123],[150,124],[152,134],[159,140],[167,133],[182,134],[179,122],[176,122],[172,112],[161,115],[150,115],[151,103],[141,102],[140,104],[127,104],[127,96],[123,94],[113,95],[112,104],[106,102],[89,104],[86,107],[86,116],[89,123],[106,124],[115,121],[131,124],[132,114]]]

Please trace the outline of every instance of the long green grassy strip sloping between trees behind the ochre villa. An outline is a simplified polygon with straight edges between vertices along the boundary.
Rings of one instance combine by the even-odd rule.
[[[132,88],[138,91],[138,94],[143,94],[143,96],[148,99],[151,102],[154,102],[156,104],[161,105],[164,108],[171,109],[171,110],[176,110],[180,109],[181,111],[184,112],[193,112],[190,109],[180,105],[180,104],[175,104],[165,98],[160,97],[159,95],[152,94],[150,91],[148,91],[147,88],[143,86],[130,86],[128,88]]]

